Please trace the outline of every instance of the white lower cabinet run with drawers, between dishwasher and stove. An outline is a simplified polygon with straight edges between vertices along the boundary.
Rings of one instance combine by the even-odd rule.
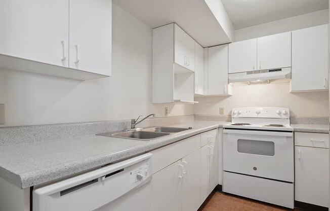
[[[196,211],[199,208],[219,183],[217,131],[210,130],[151,152],[153,165],[157,166],[153,168],[151,182],[151,210]],[[180,143],[187,142],[194,151],[191,152],[191,147],[188,151],[180,147]],[[197,142],[204,146],[196,146]],[[179,154],[181,159],[170,164],[168,158],[177,158]]]

